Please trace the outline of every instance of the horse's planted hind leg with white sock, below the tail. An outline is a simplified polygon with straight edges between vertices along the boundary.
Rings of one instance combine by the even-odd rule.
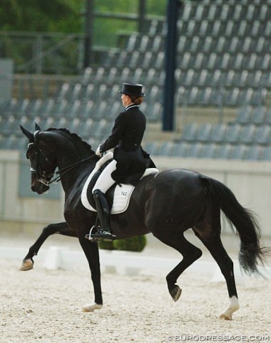
[[[232,313],[239,309],[239,301],[235,286],[235,277],[233,272],[233,262],[225,251],[220,239],[220,210],[213,207],[213,210],[207,209],[205,218],[193,227],[195,235],[203,242],[205,247],[212,254],[218,263],[220,270],[227,283],[227,291],[230,297],[230,304],[227,309],[220,314],[220,318],[231,320]]]

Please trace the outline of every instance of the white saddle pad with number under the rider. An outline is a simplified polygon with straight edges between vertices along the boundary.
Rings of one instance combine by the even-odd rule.
[[[93,169],[88,179],[86,180],[86,183],[83,186],[83,191],[81,193],[81,202],[83,206],[86,207],[86,209],[89,209],[90,211],[96,212],[96,209],[93,209],[91,204],[88,202],[88,198],[86,196],[88,184],[89,182],[91,182],[91,178],[97,172],[97,170],[100,169],[103,163],[108,161],[108,159],[112,159],[112,158],[113,158],[113,153],[109,151],[106,155],[104,155],[101,159],[99,159],[95,168]],[[157,174],[157,173],[158,173],[158,169],[148,168],[145,170],[145,173],[143,174],[141,179],[143,179],[143,177],[147,177],[150,174]],[[116,185],[116,188],[114,191],[113,206],[111,209],[111,214],[119,214],[126,211],[126,209],[128,208],[130,199],[131,199],[131,195],[133,193],[133,189],[135,189],[135,187],[132,184],[117,184]]]

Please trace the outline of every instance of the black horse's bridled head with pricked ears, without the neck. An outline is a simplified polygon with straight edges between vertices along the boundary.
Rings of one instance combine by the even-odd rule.
[[[35,132],[31,134],[21,126],[21,131],[29,139],[26,157],[31,163],[31,189],[33,192],[43,194],[48,191],[51,178],[56,170],[56,161],[42,142],[39,140],[41,128],[35,125]]]

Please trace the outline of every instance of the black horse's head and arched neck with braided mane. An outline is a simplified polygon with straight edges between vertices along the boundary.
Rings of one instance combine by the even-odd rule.
[[[31,162],[31,189],[42,194],[49,189],[52,182],[60,181],[62,186],[70,187],[78,179],[78,173],[85,165],[89,171],[98,160],[91,145],[77,134],[71,134],[68,129],[47,129],[41,131],[36,124],[34,134],[21,126],[21,131],[29,139],[26,157]],[[92,161],[91,161],[92,160]],[[88,164],[86,164],[88,163]],[[58,171],[55,172],[56,167]],[[58,175],[53,178],[53,175]],[[53,178],[53,179],[52,179]]]

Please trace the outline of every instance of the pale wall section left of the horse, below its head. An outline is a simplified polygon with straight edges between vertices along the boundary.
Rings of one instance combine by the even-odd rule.
[[[20,197],[19,181],[30,189],[29,178],[20,180],[19,151],[0,150],[0,234],[1,232],[31,233],[35,227],[63,222],[63,192],[55,199],[32,194]],[[30,167],[30,165],[29,165]]]

